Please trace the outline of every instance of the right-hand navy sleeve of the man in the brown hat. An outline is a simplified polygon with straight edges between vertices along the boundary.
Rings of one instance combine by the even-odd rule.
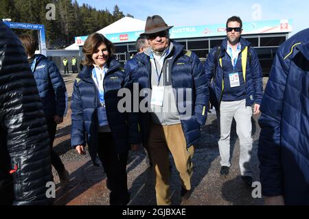
[[[209,82],[203,64],[195,53],[192,53],[192,76],[195,87],[194,116],[201,126],[206,123],[209,101]]]

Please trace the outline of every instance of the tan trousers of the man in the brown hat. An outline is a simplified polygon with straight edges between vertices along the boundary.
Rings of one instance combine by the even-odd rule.
[[[181,124],[177,125],[150,125],[148,147],[152,164],[155,168],[155,190],[157,205],[170,205],[170,161],[169,151],[172,153],[176,169],[181,178],[181,185],[186,190],[191,189],[192,156],[194,146],[187,149],[187,143]]]

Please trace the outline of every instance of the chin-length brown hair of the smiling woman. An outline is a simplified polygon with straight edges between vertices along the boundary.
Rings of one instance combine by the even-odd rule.
[[[98,47],[100,47],[102,43],[106,45],[109,59],[115,53],[115,46],[113,42],[106,39],[102,34],[91,34],[84,42],[84,47],[82,48],[82,53],[84,53],[84,60],[82,60],[82,64],[84,66],[93,65],[94,62],[92,60],[92,55],[97,52]]]

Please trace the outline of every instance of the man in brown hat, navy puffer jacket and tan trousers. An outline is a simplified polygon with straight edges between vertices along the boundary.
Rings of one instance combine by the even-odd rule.
[[[170,40],[170,28],[161,16],[148,16],[141,35],[149,48],[125,66],[128,83],[151,89],[145,104],[148,110],[139,107],[139,123],[155,168],[157,205],[171,204],[169,152],[181,178],[183,200],[192,192],[193,145],[205,125],[209,99],[203,65],[195,53]]]

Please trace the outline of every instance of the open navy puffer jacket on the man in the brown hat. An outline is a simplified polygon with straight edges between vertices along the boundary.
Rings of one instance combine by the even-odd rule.
[[[172,88],[176,89],[176,94],[179,94],[178,89],[192,91],[190,92],[192,94],[190,100],[182,100],[183,102],[187,101],[186,103],[181,102],[181,99],[177,96],[177,107],[179,105],[192,106],[190,119],[181,120],[187,147],[190,147],[201,136],[201,127],[206,123],[209,99],[208,81],[198,56],[191,51],[185,51],[183,45],[173,41],[172,43],[174,44],[174,49],[171,52],[172,66],[170,68],[172,70]],[[133,60],[127,62],[125,72],[126,84],[139,83],[139,89],[150,88],[151,64],[150,57],[145,53],[137,54]],[[150,119],[149,112],[139,113],[144,145],[147,144],[148,140]]]

